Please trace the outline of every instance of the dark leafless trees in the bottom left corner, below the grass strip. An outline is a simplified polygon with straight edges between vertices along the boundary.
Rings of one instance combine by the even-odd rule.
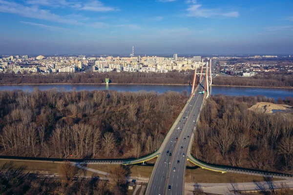
[[[85,178],[76,167],[63,164],[64,177],[47,177],[30,173],[25,167],[6,163],[0,167],[1,195],[125,195],[127,192],[124,166],[108,176],[109,182],[98,177]]]

